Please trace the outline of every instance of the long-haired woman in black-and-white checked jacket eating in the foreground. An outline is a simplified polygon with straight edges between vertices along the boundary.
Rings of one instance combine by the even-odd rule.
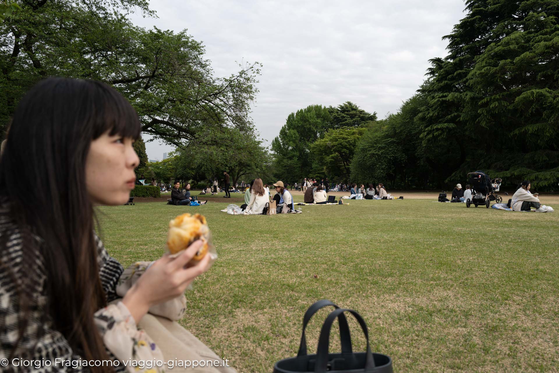
[[[209,256],[186,266],[201,243],[124,270],[94,233],[93,206],[122,205],[134,188],[139,136],[134,108],[103,83],[50,78],[20,101],[0,158],[0,357],[10,361],[2,371],[29,370],[13,359],[51,362],[34,371],[178,371],[124,362],[217,357],[172,321],[208,268]],[[28,180],[41,182],[40,195],[16,183]],[[84,360],[120,364],[60,363]]]

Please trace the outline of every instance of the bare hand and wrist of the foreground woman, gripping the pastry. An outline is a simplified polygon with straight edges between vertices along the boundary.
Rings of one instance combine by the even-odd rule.
[[[144,317],[150,306],[184,294],[186,287],[197,276],[208,270],[209,255],[198,262],[189,263],[201,249],[202,244],[202,240],[196,240],[176,258],[165,255],[158,259],[126,292],[122,302],[129,309],[136,323]]]

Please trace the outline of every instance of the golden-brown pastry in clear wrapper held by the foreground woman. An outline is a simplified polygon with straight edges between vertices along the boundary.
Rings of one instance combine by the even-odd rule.
[[[209,255],[211,266],[217,259],[217,252],[211,239],[206,218],[200,214],[182,214],[169,221],[165,251],[170,257],[175,258],[198,239],[202,240],[202,247],[188,263],[195,264]],[[191,286],[189,288],[191,289]]]

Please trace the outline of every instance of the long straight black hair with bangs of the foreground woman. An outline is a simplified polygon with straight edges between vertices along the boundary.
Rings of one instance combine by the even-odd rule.
[[[95,81],[45,79],[19,102],[0,159],[0,196],[8,201],[22,238],[28,237],[22,243],[23,265],[36,268],[42,259],[47,311],[54,328],[88,360],[106,357],[93,314],[107,300],[97,265],[86,159],[91,142],[107,132],[134,139],[140,135],[138,114],[119,92]],[[39,198],[17,182],[27,180],[39,183]],[[31,235],[39,237],[40,244],[32,242]],[[1,251],[6,244],[0,242]],[[36,252],[42,257],[37,258]],[[10,263],[0,267],[11,271]],[[27,293],[26,284],[15,285],[20,287],[20,314],[25,314],[33,294]],[[25,316],[19,320],[18,343],[26,323]],[[112,371],[110,367],[91,370]]]

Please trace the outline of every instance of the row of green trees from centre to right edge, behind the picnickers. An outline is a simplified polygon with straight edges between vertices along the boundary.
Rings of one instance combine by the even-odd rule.
[[[449,188],[481,169],[540,190],[559,181],[557,1],[468,0],[449,55],[396,114],[377,120],[351,102],[288,116],[272,142],[274,174]]]

